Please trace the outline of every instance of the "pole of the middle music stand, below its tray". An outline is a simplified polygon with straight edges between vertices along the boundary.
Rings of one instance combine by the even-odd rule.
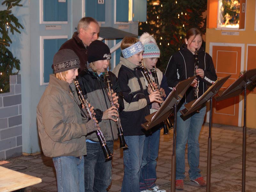
[[[206,191],[211,191],[211,156],[212,156],[212,97],[210,98],[210,119],[209,119],[209,137],[208,137],[208,150],[207,150],[207,178],[206,178]]]

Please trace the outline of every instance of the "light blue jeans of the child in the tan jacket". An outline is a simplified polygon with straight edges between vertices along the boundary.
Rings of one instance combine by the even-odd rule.
[[[52,158],[58,192],[84,192],[84,156],[78,159],[73,156]]]

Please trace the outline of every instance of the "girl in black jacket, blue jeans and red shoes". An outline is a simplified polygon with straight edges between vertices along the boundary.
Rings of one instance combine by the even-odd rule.
[[[216,72],[212,62],[212,57],[201,47],[202,34],[196,28],[188,30],[185,45],[180,51],[174,53],[167,65],[165,76],[169,87],[175,85],[189,77],[194,76],[195,52],[198,52],[198,69],[196,74],[198,81],[195,79],[182,99],[181,107],[178,111],[184,109],[184,104],[196,99],[195,88],[198,86],[200,97],[206,90],[207,85],[213,84],[216,79]],[[199,166],[199,142],[198,137],[204,122],[206,106],[199,109],[200,113],[195,113],[187,119],[177,115],[177,139],[176,139],[176,188],[183,189],[183,180],[185,179],[185,148],[188,142],[188,164],[189,179],[200,186],[206,186],[204,178],[200,175]]]

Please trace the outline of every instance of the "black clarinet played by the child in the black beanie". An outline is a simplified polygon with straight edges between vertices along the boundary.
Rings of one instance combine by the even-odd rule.
[[[112,89],[112,84],[111,84],[111,80],[110,80],[107,69],[105,69],[104,78],[108,85],[108,93],[109,93],[108,98],[110,101],[110,105],[111,105],[111,107],[117,108],[117,106],[114,104],[114,100],[112,97],[112,95],[114,94],[114,90]],[[116,127],[117,127],[117,131],[118,131],[118,137],[119,137],[119,141],[120,141],[120,148],[123,148],[123,150],[126,150],[126,149],[128,149],[128,145],[125,143],[125,140],[124,140],[123,128],[121,125],[121,120],[119,118],[118,108],[117,108],[117,115],[118,115],[118,117],[115,116],[115,119],[116,119]]]

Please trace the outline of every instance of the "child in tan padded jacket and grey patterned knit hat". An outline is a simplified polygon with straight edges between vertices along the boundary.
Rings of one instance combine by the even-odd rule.
[[[81,116],[73,79],[80,61],[70,49],[58,51],[53,58],[49,85],[36,109],[38,133],[45,156],[52,157],[58,191],[84,192],[85,135],[98,128],[93,120]],[[92,110],[92,108],[91,108]],[[96,119],[94,119],[96,120]]]

